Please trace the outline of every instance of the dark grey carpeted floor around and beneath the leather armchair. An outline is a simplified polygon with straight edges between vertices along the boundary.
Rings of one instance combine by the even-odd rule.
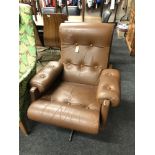
[[[124,39],[114,35],[110,62],[121,71],[121,105],[110,110],[106,129],[100,134],[75,133],[68,142],[66,129],[36,123],[29,136],[20,132],[20,155],[134,155],[135,154],[135,60]]]

